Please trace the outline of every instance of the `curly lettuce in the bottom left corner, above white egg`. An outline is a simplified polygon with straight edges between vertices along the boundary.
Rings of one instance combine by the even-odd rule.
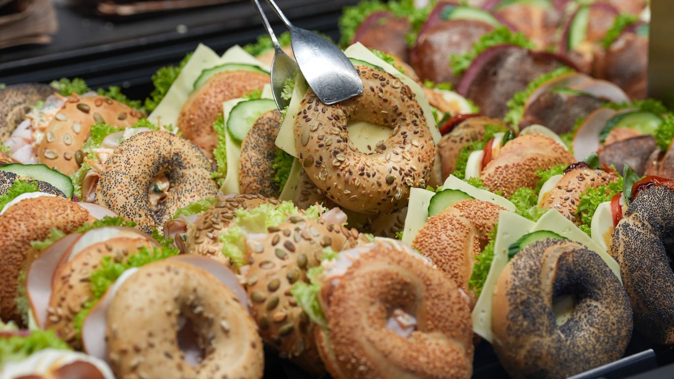
[[[26,337],[19,335],[0,339],[0,371],[9,362],[22,361],[44,349],[70,350],[67,343],[56,337],[54,330],[32,330]]]

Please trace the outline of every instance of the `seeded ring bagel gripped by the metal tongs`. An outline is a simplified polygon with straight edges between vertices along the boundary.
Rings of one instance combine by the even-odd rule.
[[[407,205],[410,187],[425,187],[435,160],[435,142],[421,106],[394,76],[356,67],[363,94],[324,105],[312,90],[295,119],[295,148],[309,178],[343,208],[391,213]],[[361,152],[346,125],[367,121],[391,128],[374,152]]]

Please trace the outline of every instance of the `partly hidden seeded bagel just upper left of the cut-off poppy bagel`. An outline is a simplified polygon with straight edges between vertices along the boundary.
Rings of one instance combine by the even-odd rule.
[[[588,188],[609,185],[618,180],[612,171],[602,169],[573,169],[567,171],[557,185],[543,196],[541,208],[555,208],[559,213],[576,225],[581,224],[580,215],[576,214],[580,204],[580,195]]]

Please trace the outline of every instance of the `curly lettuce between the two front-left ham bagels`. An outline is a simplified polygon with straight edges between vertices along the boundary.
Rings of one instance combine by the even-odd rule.
[[[88,316],[89,312],[91,312],[94,305],[98,303],[98,300],[103,297],[105,292],[108,291],[108,288],[117,281],[122,272],[129,268],[145,266],[146,264],[177,254],[179,254],[177,248],[162,245],[162,247],[152,248],[142,246],[138,249],[137,253],[129,256],[125,262],[115,262],[114,257],[111,256],[103,257],[100,261],[100,267],[89,276],[93,297],[84,303],[80,312],[73,318],[73,328],[75,328],[78,336],[82,332],[82,324],[84,324],[86,316]]]

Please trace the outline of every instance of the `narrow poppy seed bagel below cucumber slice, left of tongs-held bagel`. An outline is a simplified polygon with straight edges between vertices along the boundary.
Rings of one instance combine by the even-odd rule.
[[[241,142],[239,188],[242,194],[278,196],[282,188],[274,183],[274,142],[281,124],[281,113],[274,109],[263,113]]]

